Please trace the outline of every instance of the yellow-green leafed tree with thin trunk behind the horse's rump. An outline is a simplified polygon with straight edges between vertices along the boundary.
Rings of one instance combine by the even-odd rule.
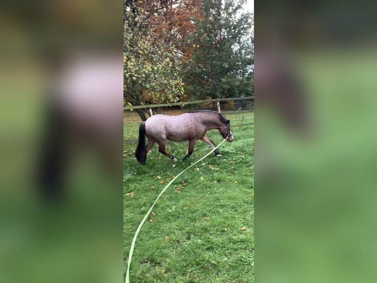
[[[175,102],[183,94],[180,58],[174,46],[153,35],[148,13],[128,9],[124,15],[125,104]],[[140,118],[147,119],[142,109]]]

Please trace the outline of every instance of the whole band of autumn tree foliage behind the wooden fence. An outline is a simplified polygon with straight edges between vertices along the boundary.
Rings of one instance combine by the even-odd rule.
[[[253,16],[245,4],[124,0],[125,105],[252,96]]]

